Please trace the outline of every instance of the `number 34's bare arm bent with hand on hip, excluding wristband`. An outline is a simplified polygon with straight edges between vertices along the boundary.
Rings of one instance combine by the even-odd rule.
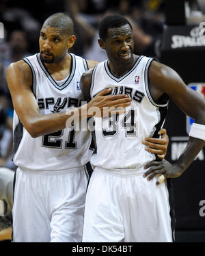
[[[180,110],[193,118],[195,123],[205,125],[204,99],[197,92],[188,88],[172,68],[153,61],[150,66],[149,79],[150,91],[155,100],[165,93],[180,107]],[[144,174],[144,177],[148,177],[148,180],[160,174],[165,177],[179,177],[193,162],[204,144],[205,141],[202,139],[189,137],[186,149],[175,164],[169,164],[165,160],[151,162],[145,166],[145,168],[151,168]]]

